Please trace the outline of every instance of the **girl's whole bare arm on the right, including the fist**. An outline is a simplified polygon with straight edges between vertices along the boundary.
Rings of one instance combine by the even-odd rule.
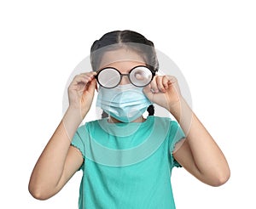
[[[151,91],[154,90],[154,92]],[[186,134],[186,140],[177,143],[174,158],[202,182],[218,186],[230,178],[230,168],[218,145],[207,129],[183,99],[177,79],[173,76],[155,76],[144,88],[148,99],[169,110]]]

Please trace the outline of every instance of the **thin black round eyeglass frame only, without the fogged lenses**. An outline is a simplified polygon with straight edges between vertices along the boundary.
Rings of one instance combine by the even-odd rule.
[[[131,71],[133,71],[133,70],[136,69],[137,67],[145,67],[145,68],[147,68],[147,69],[152,73],[151,80],[148,82],[148,84],[149,84],[150,82],[152,82],[152,80],[153,80],[153,78],[154,78],[154,76],[155,76],[155,71],[149,69],[149,68],[148,68],[147,66],[145,66],[145,65],[137,65],[137,66],[131,68]],[[129,81],[131,82],[131,78],[130,78],[131,71],[129,71],[129,73],[122,74],[122,73],[120,73],[120,71],[119,71],[118,69],[116,69],[116,68],[114,68],[114,67],[104,67],[104,68],[102,68],[100,71],[98,71],[98,72],[97,72],[97,75],[95,76],[96,81],[99,83],[100,86],[102,86],[102,84],[101,84],[101,82],[99,82],[99,80],[98,80],[98,75],[100,74],[101,71],[104,71],[104,70],[106,70],[106,69],[113,69],[113,70],[115,70],[115,71],[118,71],[119,76],[120,76],[120,79],[119,79],[118,84],[115,85],[114,87],[111,87],[111,88],[116,88],[116,87],[119,85],[119,83],[122,81],[123,76],[127,76],[128,79],[129,79]],[[137,87],[137,88],[143,88],[143,87],[148,86],[148,84],[146,84],[146,85],[144,85],[144,86],[137,86],[137,85],[135,85],[133,82],[131,82],[131,84],[132,84],[133,86]],[[107,88],[107,87],[102,86],[102,88]]]

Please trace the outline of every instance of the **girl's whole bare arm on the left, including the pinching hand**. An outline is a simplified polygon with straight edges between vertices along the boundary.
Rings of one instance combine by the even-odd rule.
[[[28,189],[32,196],[46,200],[55,195],[78,171],[84,159],[70,145],[90,105],[96,88],[95,73],[76,76],[68,88],[69,107],[36,163]]]

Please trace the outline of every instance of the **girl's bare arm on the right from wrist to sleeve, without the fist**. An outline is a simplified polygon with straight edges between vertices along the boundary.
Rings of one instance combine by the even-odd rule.
[[[224,184],[230,178],[228,163],[189,105],[181,99],[179,105],[172,106],[172,115],[186,133],[186,140],[180,142],[183,144],[178,150],[174,150],[174,158],[202,182],[212,186]],[[177,143],[177,147],[180,144]]]

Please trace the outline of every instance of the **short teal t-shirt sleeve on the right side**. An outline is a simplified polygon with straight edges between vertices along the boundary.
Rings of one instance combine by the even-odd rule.
[[[170,155],[172,160],[173,167],[182,167],[173,157],[172,152],[175,148],[177,142],[181,139],[185,138],[185,134],[183,133],[183,129],[179,126],[177,121],[171,121],[170,133],[169,133],[169,148],[170,148]]]

